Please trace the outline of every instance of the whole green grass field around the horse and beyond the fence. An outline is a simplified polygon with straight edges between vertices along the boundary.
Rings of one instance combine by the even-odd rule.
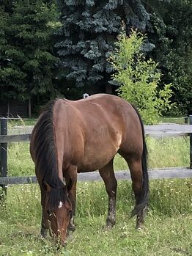
[[[147,138],[149,167],[189,165],[189,139]],[[27,143],[9,146],[9,175],[34,175]],[[128,169],[121,157],[115,169]],[[76,230],[67,248],[40,238],[40,191],[37,185],[10,186],[0,203],[0,255],[192,255],[192,180],[153,180],[144,230],[130,219],[134,200],[131,183],[117,192],[117,224],[105,229],[108,200],[102,182],[78,183]]]

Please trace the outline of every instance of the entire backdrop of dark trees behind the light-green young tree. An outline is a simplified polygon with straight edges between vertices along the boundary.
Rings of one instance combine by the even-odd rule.
[[[15,0],[0,2],[0,98],[115,93],[107,59],[121,32],[147,34],[143,53],[172,84],[172,115],[191,113],[192,3],[188,0]]]

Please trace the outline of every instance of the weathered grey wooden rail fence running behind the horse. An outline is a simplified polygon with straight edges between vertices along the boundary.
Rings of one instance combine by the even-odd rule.
[[[10,142],[29,142],[32,132],[32,126],[25,126],[25,134],[7,134],[7,119],[0,118],[1,122],[1,173],[0,173],[0,186],[7,186],[8,184],[26,184],[36,183],[37,179],[32,177],[7,177],[7,143]],[[159,178],[192,178],[192,115],[189,117],[189,125],[177,124],[161,124],[161,125],[145,125],[145,134],[153,137],[163,136],[190,136],[190,167],[178,168],[164,168],[164,169],[149,169],[150,179]],[[181,145],[182,146],[182,145]],[[117,180],[130,179],[130,172],[118,171],[115,172]],[[78,180],[101,180],[98,172],[86,172],[78,174]]]

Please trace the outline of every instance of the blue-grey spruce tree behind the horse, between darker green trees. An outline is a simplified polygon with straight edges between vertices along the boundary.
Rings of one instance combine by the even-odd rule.
[[[125,23],[142,32],[150,29],[149,14],[140,0],[64,0],[59,1],[62,26],[56,48],[62,72],[74,86],[109,86],[113,68],[107,61],[114,42]],[[151,48],[149,43],[146,48]]]

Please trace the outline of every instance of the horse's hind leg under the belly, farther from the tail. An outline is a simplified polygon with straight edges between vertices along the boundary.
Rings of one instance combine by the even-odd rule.
[[[114,176],[114,167],[112,159],[105,167],[99,170],[100,176],[106,185],[108,194],[108,217],[106,220],[107,227],[113,227],[116,222],[116,195],[117,195],[117,180]]]

